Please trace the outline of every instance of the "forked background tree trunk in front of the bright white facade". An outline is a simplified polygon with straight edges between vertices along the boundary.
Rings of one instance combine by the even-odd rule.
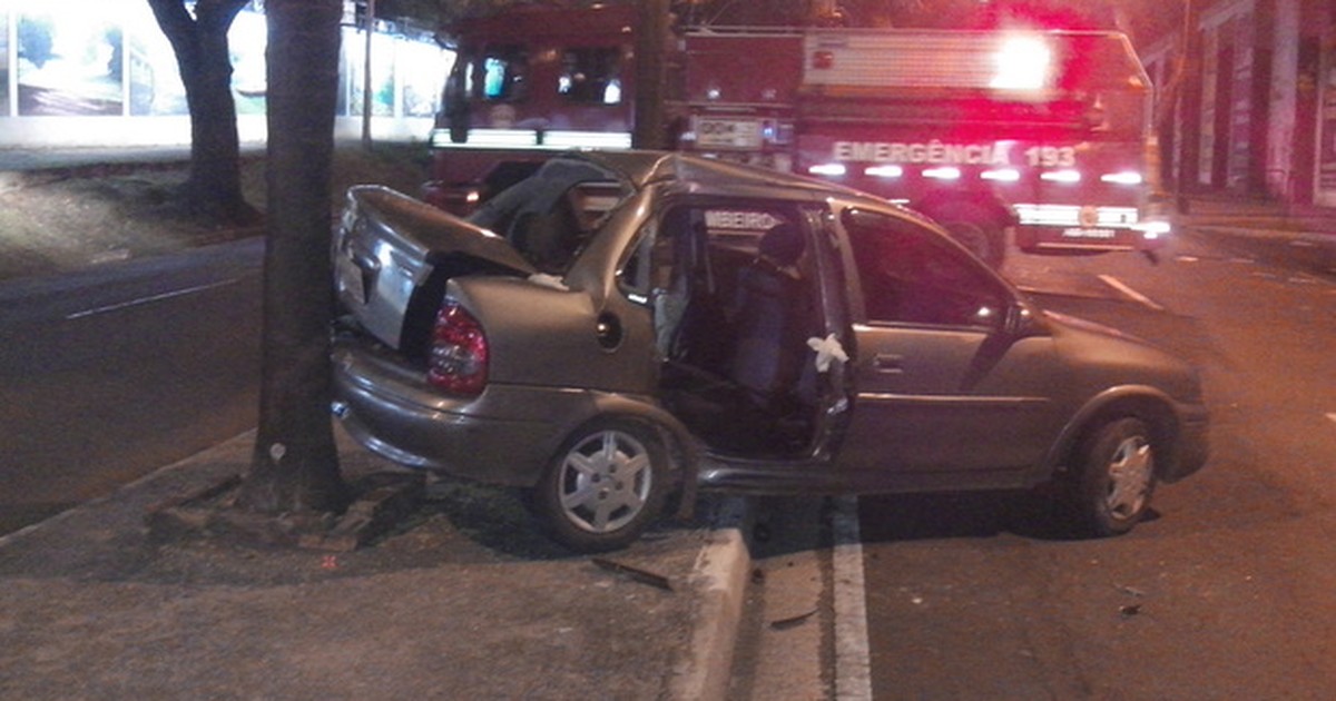
[[[180,196],[187,208],[231,223],[251,223],[258,212],[240,186],[240,140],[232,99],[227,29],[248,0],[199,0],[194,17],[186,0],[148,0],[171,41],[190,108],[190,176]]]

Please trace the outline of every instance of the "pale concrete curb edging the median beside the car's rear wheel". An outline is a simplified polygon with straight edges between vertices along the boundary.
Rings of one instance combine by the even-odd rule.
[[[713,519],[715,530],[696,558],[691,586],[700,602],[685,660],[669,685],[671,698],[723,701],[728,697],[751,570],[751,550],[743,537],[751,506],[744,498],[725,499]]]

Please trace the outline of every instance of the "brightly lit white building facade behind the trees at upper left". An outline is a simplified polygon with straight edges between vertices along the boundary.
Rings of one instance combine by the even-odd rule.
[[[262,8],[253,1],[228,32],[243,142],[265,140]],[[452,61],[429,32],[397,23],[377,23],[369,43],[347,1],[339,135],[362,134],[369,85],[373,136],[426,140]],[[0,0],[0,148],[188,143],[176,59],[146,0]]]

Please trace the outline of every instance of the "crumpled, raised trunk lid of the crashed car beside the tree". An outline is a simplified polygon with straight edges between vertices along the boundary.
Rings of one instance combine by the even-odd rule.
[[[536,272],[504,238],[382,186],[349,188],[333,258],[343,308],[381,342],[409,351],[449,278]]]

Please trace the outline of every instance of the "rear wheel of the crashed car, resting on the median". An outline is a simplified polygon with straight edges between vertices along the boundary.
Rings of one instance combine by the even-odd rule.
[[[668,474],[668,451],[651,429],[600,419],[566,438],[528,501],[561,545],[617,550],[659,518]]]

